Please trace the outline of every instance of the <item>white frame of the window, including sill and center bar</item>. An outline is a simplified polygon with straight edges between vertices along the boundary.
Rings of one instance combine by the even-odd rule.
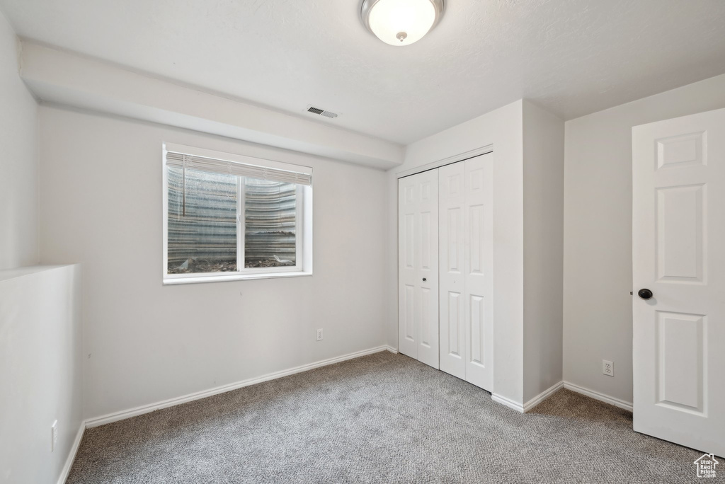
[[[208,149],[164,143],[162,149],[162,220],[163,220],[163,283],[190,284],[212,283],[227,280],[249,280],[268,278],[291,278],[312,275],[312,185],[297,185],[297,204],[295,213],[295,264],[281,267],[254,267],[244,268],[244,177],[237,177],[237,211],[236,211],[236,257],[237,268],[242,270],[229,272],[194,272],[189,274],[169,274],[168,271],[168,229],[169,229],[169,190],[166,166],[167,151],[175,151],[199,157],[220,159],[228,162],[254,164],[256,166],[278,168],[288,171],[312,173],[312,168],[295,164],[287,164],[267,159],[247,157],[241,154],[223,153]]]

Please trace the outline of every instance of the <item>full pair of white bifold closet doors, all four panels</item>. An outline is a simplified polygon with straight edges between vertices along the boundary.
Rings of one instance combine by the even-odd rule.
[[[492,390],[492,157],[398,181],[399,351]]]

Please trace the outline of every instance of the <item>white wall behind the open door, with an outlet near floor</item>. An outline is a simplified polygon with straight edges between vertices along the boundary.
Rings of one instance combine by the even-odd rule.
[[[631,127],[721,107],[725,75],[566,122],[566,381],[632,399]]]

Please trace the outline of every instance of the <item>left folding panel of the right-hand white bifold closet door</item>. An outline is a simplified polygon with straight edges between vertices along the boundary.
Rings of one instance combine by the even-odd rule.
[[[439,168],[439,325],[441,370],[465,379],[465,164]]]

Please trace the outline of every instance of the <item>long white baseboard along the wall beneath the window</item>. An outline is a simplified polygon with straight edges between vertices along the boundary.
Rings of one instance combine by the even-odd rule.
[[[254,385],[256,383],[262,383],[268,380],[274,380],[276,378],[286,377],[288,375],[294,375],[295,373],[306,372],[307,370],[313,370],[319,367],[325,367],[328,364],[335,364],[344,362],[347,359],[358,358],[368,354],[379,353],[380,351],[394,351],[389,346],[377,346],[376,348],[365,349],[363,351],[355,351],[355,353],[345,354],[343,356],[336,356],[334,358],[323,359],[319,362],[303,364],[299,367],[290,368],[289,370],[282,370],[280,372],[268,373],[261,377],[249,378],[248,380],[242,380],[236,383],[230,383],[228,385],[218,386],[216,388],[210,388],[209,390],[198,391],[195,393],[189,393],[188,395],[180,396],[175,399],[168,399],[158,401],[154,404],[137,406],[133,409],[123,410],[121,412],[114,412],[111,414],[102,415],[101,417],[94,417],[86,420],[86,427],[98,427],[99,425],[106,425],[111,422],[117,422],[119,420],[125,420],[130,417],[136,417],[137,415],[147,414],[154,412],[154,410],[165,409],[170,406],[186,404],[188,401],[194,401],[199,399],[205,399],[208,396],[218,395],[219,393],[225,393],[228,391],[236,390],[237,388],[243,388],[245,386]]]

